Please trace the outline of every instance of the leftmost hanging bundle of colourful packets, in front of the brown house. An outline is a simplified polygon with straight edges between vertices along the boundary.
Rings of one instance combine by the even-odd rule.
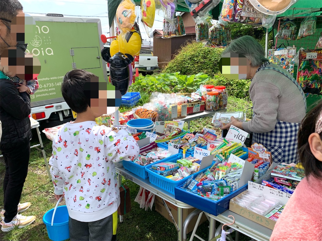
[[[173,23],[163,20],[163,35],[162,38],[172,38],[185,36],[185,25],[180,15],[173,19]]]

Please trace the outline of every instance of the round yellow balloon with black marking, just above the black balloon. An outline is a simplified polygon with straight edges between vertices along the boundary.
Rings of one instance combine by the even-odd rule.
[[[141,37],[139,33],[133,29],[127,34],[121,33],[118,35],[118,44],[121,53],[130,54],[132,56],[140,54]]]

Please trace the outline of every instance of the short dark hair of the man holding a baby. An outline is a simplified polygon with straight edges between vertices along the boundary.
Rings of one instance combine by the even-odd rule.
[[[0,15],[1,18],[12,21],[17,16],[19,11],[23,10],[23,6],[18,0],[1,0],[0,1]],[[2,20],[5,21],[5,20]],[[5,24],[10,27],[11,23],[6,21]],[[10,31],[7,31],[9,34]]]

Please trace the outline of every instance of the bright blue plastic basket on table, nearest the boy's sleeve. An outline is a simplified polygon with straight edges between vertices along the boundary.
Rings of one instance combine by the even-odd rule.
[[[151,167],[152,164],[156,164],[156,163],[160,163],[160,162],[168,162],[168,161],[176,161],[178,159],[182,158],[182,154],[179,153],[179,154],[176,154],[174,156],[170,156],[170,157],[167,157],[167,158],[164,158],[160,161],[157,161],[157,162],[154,162],[154,163],[151,163],[149,165],[146,165],[146,166],[141,166],[141,165],[138,165],[132,161],[123,161],[123,167],[128,170],[129,172],[143,178],[143,179],[147,179],[148,178],[148,174],[146,172],[146,167]]]

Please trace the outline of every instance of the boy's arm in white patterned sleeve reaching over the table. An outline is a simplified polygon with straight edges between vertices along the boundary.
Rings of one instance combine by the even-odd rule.
[[[119,162],[122,160],[130,161],[138,157],[140,147],[135,139],[125,130],[119,130],[116,134],[114,131],[107,134],[107,148],[104,148],[109,153],[107,157],[110,161]]]

